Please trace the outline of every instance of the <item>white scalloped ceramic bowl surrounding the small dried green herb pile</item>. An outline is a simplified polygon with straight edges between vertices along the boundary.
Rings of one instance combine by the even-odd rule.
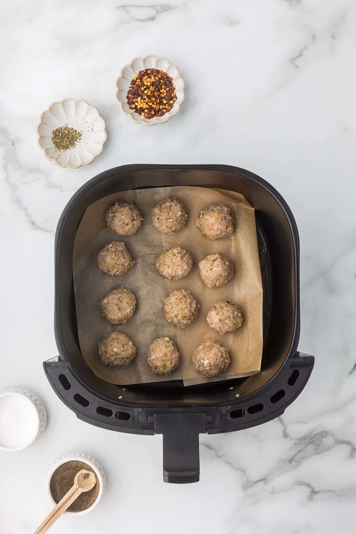
[[[58,152],[52,143],[52,131],[59,126],[68,125],[82,132],[81,139],[74,148]],[[105,121],[100,117],[96,107],[85,100],[65,98],[53,102],[41,114],[37,125],[37,143],[44,155],[59,167],[77,169],[89,165],[101,154],[107,139]]]

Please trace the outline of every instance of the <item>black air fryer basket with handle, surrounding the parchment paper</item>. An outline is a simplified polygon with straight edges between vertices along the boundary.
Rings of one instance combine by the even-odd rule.
[[[241,193],[255,207],[263,280],[264,345],[261,371],[183,387],[180,381],[116,386],[86,365],[78,342],[73,247],[85,209],[117,191],[193,185]],[[163,434],[165,482],[199,481],[199,434],[249,428],[281,415],[304,388],[314,358],[299,340],[299,237],[287,203],[249,171],[230,166],[126,165],[102,172],[68,202],[55,242],[54,331],[59,356],[44,362],[59,398],[77,417],[132,434]]]

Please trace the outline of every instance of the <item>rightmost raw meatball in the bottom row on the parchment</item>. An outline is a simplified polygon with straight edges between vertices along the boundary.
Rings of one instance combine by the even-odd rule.
[[[226,347],[213,339],[208,339],[194,350],[192,362],[195,371],[211,378],[226,371],[230,364],[230,356]]]

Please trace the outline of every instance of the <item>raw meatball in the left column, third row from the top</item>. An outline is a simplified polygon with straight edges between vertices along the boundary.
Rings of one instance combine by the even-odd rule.
[[[112,325],[125,325],[135,313],[136,297],[130,289],[113,289],[101,301],[100,310]]]

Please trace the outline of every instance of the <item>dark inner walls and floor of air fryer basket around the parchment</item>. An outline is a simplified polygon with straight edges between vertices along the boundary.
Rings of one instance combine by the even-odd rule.
[[[254,394],[294,355],[299,337],[299,242],[294,218],[280,195],[261,178],[226,166],[125,166],[111,169],[85,184],[69,201],[56,234],[55,330],[60,357],[68,360],[77,378],[102,398],[117,398],[118,387],[97,378],[84,362],[77,335],[72,260],[77,227],[85,209],[96,200],[129,189],[191,185],[241,193],[255,207],[271,255],[271,323],[264,339],[262,370],[234,381],[240,396]],[[265,295],[264,295],[265,298]],[[199,387],[140,384],[125,396],[132,403],[207,404],[231,398],[226,382]]]

